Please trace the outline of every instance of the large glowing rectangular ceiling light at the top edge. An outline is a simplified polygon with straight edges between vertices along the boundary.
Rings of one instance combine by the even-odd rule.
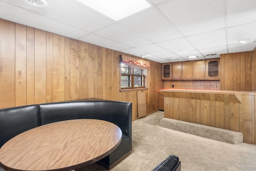
[[[114,19],[120,20],[150,7],[145,0],[77,0],[86,6]]]

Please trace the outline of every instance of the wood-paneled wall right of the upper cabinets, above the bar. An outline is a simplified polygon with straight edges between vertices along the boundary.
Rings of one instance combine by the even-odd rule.
[[[220,56],[221,89],[255,91],[253,70],[256,65],[253,65],[253,61],[253,51],[222,54]]]

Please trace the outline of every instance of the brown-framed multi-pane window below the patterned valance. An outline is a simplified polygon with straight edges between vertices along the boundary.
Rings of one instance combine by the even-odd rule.
[[[121,89],[145,87],[147,70],[121,63]]]

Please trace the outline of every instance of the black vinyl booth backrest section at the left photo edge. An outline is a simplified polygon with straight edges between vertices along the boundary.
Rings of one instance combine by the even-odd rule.
[[[0,147],[12,137],[39,125],[38,105],[0,110]]]

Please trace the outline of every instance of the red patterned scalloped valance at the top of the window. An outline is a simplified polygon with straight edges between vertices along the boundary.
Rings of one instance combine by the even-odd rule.
[[[128,64],[130,66],[134,66],[134,67],[141,68],[144,70],[148,70],[150,68],[149,61],[144,61],[144,60],[132,58],[132,57],[125,56],[125,55],[120,55],[120,58],[122,60],[122,63]]]

